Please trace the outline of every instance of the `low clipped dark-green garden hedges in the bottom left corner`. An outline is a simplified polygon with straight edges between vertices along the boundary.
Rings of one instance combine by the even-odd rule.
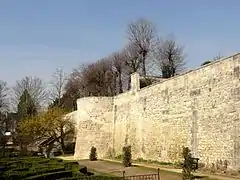
[[[21,165],[23,164],[23,165]],[[87,167],[76,161],[59,161],[39,157],[2,158],[3,176],[0,179],[122,179],[107,174],[89,172]],[[18,168],[18,167],[22,168]]]

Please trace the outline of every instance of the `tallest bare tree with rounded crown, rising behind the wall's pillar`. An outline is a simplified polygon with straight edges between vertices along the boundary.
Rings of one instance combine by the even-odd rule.
[[[140,18],[128,25],[127,34],[130,43],[136,46],[142,73],[146,76],[146,59],[155,44],[156,29],[150,21]]]

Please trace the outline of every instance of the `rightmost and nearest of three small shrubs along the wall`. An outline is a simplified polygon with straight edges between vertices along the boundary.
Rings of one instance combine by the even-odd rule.
[[[192,175],[194,161],[190,150],[188,147],[183,147],[183,167],[182,167],[182,178],[183,180],[192,180],[194,176]]]

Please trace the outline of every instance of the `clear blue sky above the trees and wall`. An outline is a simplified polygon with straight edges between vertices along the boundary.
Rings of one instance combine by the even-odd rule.
[[[240,51],[239,0],[0,0],[0,79],[50,80],[121,49],[126,26],[151,20],[185,46],[188,67]]]

